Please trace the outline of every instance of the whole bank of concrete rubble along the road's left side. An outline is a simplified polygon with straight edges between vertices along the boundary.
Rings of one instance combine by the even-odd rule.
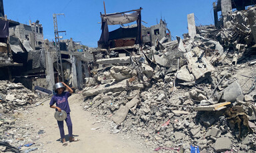
[[[31,123],[33,107],[49,100],[49,96],[35,94],[21,83],[0,80],[0,140],[1,152],[30,152],[43,149],[40,142],[43,126]],[[28,110],[31,108],[30,110]],[[38,118],[40,120],[40,118]],[[36,128],[41,130],[35,131]],[[29,147],[29,148],[28,148]]]

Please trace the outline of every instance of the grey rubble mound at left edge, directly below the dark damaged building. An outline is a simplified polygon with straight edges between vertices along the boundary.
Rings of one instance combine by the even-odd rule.
[[[0,108],[4,113],[37,102],[37,94],[21,83],[0,80]]]

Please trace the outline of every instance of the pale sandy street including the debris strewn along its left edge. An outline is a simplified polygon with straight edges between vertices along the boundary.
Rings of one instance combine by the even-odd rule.
[[[73,134],[80,139],[79,142],[62,146],[49,99],[40,100],[43,103],[33,108],[15,110],[11,118],[2,114],[1,140],[20,148],[21,152],[152,152],[141,143],[143,140],[110,134],[110,121],[84,111],[81,98],[81,95],[74,94],[69,99]],[[5,146],[0,149],[5,150]]]

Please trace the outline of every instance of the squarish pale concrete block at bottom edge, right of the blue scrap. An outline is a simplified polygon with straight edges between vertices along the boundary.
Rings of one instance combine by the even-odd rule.
[[[227,137],[217,138],[213,146],[216,152],[224,152],[226,150],[231,150],[232,142]]]

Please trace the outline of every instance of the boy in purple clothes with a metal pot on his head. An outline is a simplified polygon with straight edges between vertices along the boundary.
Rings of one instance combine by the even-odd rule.
[[[55,84],[55,92],[57,94],[53,95],[50,101],[50,107],[55,108],[56,111],[61,112],[61,110],[65,110],[67,112],[67,118],[65,119],[67,123],[67,128],[69,130],[69,142],[75,142],[78,141],[77,138],[73,138],[72,134],[72,122],[70,118],[70,108],[69,108],[69,102],[67,101],[67,98],[71,96],[73,93],[73,90],[67,86],[64,82],[58,82]],[[65,92],[65,87],[67,88],[68,92]],[[56,106],[53,106],[53,104],[56,103]],[[61,133],[61,142],[63,143],[63,146],[67,146],[66,140],[65,140],[65,134],[64,134],[64,127],[63,127],[63,121],[57,121],[59,126],[59,132]]]

